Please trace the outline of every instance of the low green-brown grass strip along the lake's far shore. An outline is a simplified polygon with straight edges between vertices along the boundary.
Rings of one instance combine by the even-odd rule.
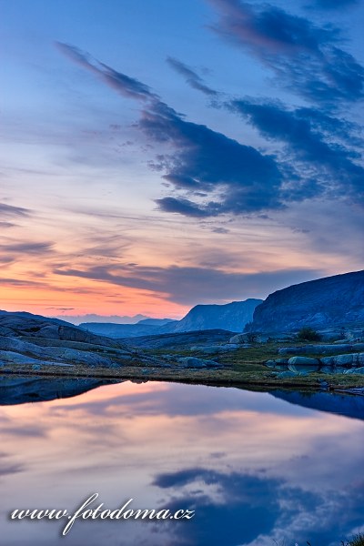
[[[145,362],[133,361],[127,364],[124,360],[118,360],[117,355],[112,354],[113,349],[102,349],[115,362],[113,368],[91,367],[86,364],[76,363],[73,368],[62,368],[61,366],[49,365],[43,362],[40,369],[32,364],[9,364],[0,368],[3,373],[17,373],[27,375],[45,375],[51,377],[78,377],[95,379],[135,379],[135,380],[166,380],[185,383],[198,383],[206,385],[237,386],[248,389],[300,389],[303,391],[315,391],[319,389],[319,380],[325,379],[329,383],[329,389],[349,389],[364,386],[364,376],[323,374],[313,372],[304,376],[290,378],[277,378],[271,369],[268,369],[264,362],[268,359],[277,359],[278,349],[287,347],[287,343],[270,342],[255,344],[251,349],[237,349],[228,353],[217,355],[201,354],[197,351],[191,352],[188,349],[148,349],[144,350],[147,356],[160,358],[158,363],[146,364]],[[295,342],[292,346],[300,347],[307,345],[305,342]],[[197,356],[201,359],[216,359],[221,368],[219,369],[183,369],[177,363],[170,360],[171,368],[164,367],[163,357],[171,356]],[[305,355],[306,356],[306,355]],[[318,358],[318,355],[315,355]]]

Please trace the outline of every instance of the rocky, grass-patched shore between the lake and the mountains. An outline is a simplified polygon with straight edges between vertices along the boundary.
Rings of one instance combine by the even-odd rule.
[[[61,320],[4,311],[0,374],[59,377],[65,384],[71,378],[172,380],[252,389],[356,388],[360,393],[364,339],[353,332],[348,330],[339,343],[307,343],[292,333],[252,336],[227,330],[109,339]]]

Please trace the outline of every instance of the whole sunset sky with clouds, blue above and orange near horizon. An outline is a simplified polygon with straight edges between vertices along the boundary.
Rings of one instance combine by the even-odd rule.
[[[178,319],[362,268],[362,3],[0,5],[1,308]]]

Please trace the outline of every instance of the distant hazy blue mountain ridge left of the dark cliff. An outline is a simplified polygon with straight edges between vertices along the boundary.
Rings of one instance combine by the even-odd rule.
[[[261,299],[233,301],[225,305],[197,305],[188,311],[181,320],[150,319],[141,320],[137,324],[100,324],[83,323],[80,328],[87,329],[98,335],[110,338],[134,338],[137,336],[156,336],[191,332],[205,329],[225,329],[232,332],[242,332],[247,322],[253,318],[254,309]]]

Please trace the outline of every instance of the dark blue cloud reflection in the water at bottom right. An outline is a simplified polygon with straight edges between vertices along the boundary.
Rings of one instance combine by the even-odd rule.
[[[188,525],[174,528],[177,546],[236,546],[258,537],[264,544],[333,544],[362,522],[360,480],[354,489],[309,491],[263,472],[190,468],[158,474],[153,485],[170,494],[170,510],[196,511]]]

